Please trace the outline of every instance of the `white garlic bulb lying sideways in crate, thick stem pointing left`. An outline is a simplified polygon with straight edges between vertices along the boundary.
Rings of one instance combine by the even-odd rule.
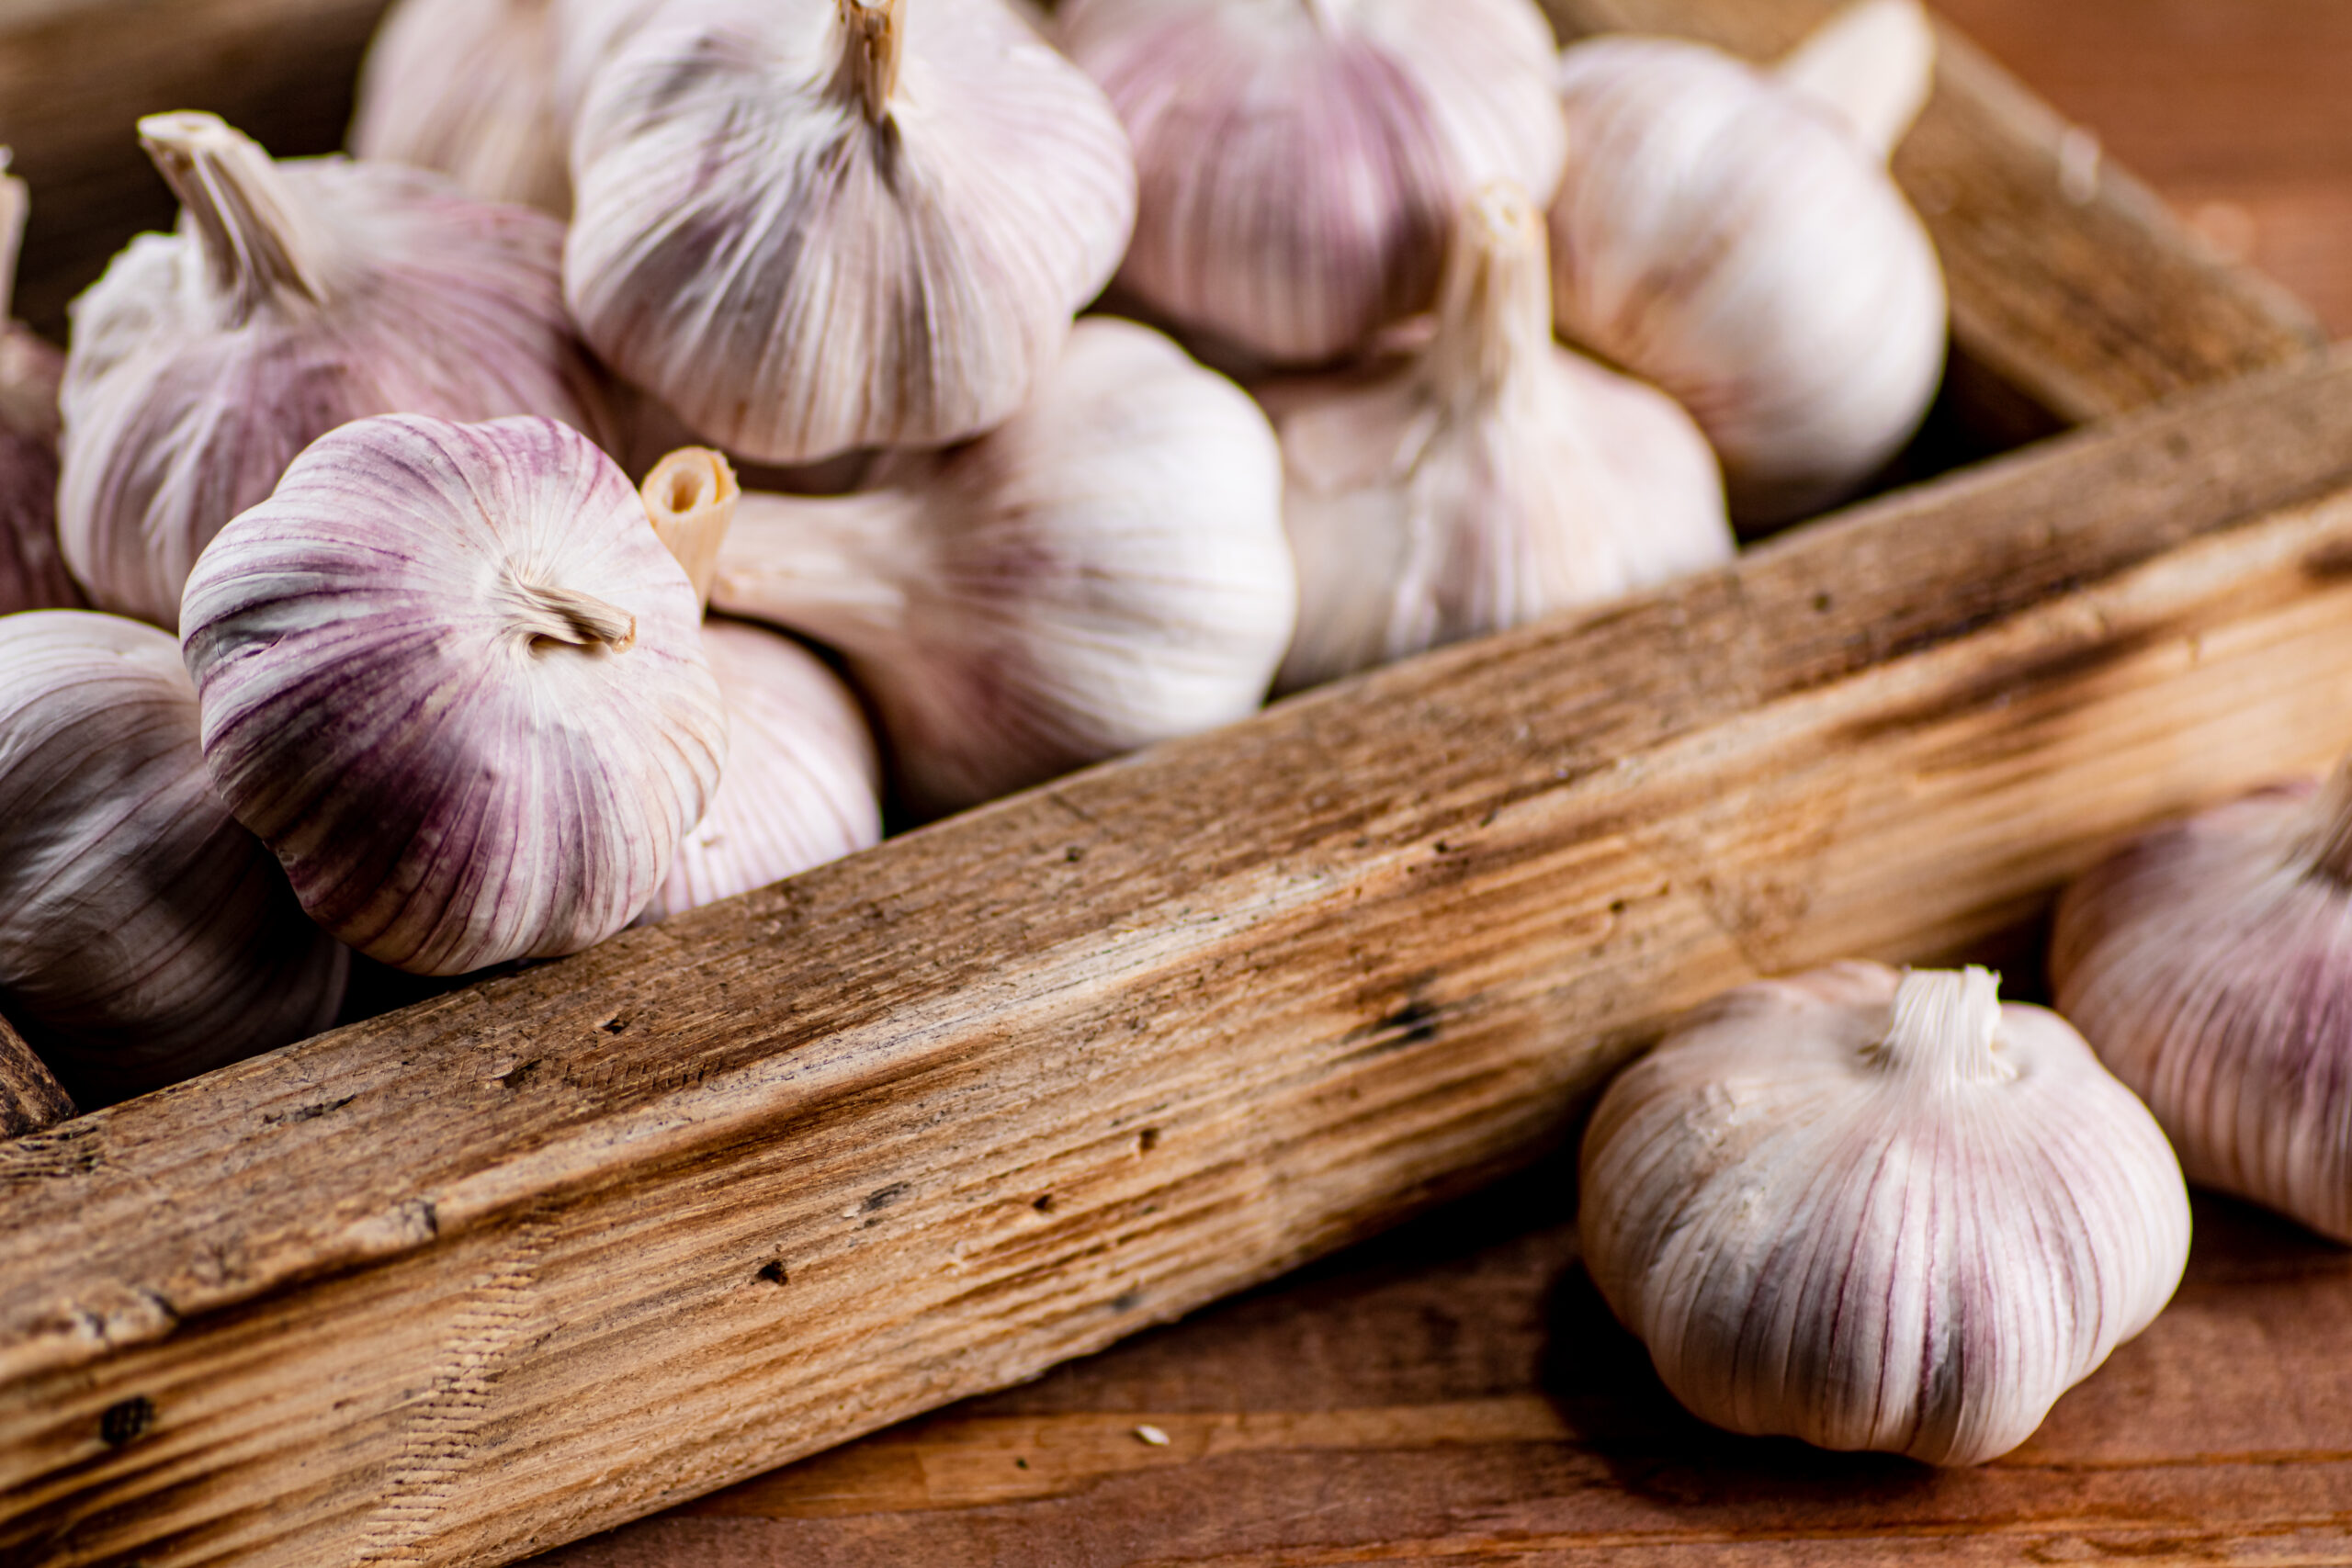
[[[1018,418],[875,484],[746,496],[710,602],[847,656],[917,811],[1265,698],[1296,614],[1282,461],[1256,404],[1160,334],[1080,322]]]

